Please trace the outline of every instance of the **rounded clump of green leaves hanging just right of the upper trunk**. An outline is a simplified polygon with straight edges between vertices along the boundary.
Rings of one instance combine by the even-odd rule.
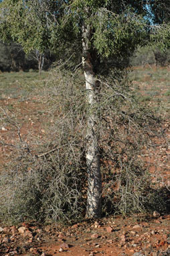
[[[116,15],[101,10],[94,17],[94,46],[106,57],[114,54],[131,56],[135,48],[146,38],[145,23],[141,17],[126,12]]]

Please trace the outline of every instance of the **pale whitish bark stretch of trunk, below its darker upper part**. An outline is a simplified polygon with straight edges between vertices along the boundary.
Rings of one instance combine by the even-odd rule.
[[[88,167],[88,199],[86,216],[98,218],[101,214],[102,180],[100,154],[98,152],[98,102],[96,101],[96,78],[84,71],[88,101],[88,129],[86,133],[86,163]]]

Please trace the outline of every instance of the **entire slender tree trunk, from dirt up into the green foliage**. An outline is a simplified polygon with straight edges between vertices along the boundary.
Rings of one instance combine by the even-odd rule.
[[[86,97],[88,102],[88,127],[86,133],[86,164],[88,168],[88,195],[86,206],[87,218],[100,218],[102,178],[100,172],[100,153],[98,150],[98,99],[97,82],[90,56],[91,31],[87,25],[82,26],[82,64],[86,80]]]

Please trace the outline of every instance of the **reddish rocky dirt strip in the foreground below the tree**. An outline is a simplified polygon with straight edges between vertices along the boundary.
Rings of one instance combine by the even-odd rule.
[[[0,255],[155,256],[170,250],[169,221],[169,215],[158,217],[155,212],[148,220],[117,216],[70,227],[22,223],[0,229]]]

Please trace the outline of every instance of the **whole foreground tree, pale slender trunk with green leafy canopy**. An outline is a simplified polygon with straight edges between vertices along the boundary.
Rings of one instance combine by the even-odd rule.
[[[1,3],[1,36],[11,37],[26,52],[46,48],[81,56],[86,81],[88,129],[86,131],[86,167],[88,196],[86,216],[101,216],[102,178],[100,173],[100,80],[102,68],[109,72],[107,60],[129,57],[144,43],[147,29],[143,1],[72,0],[15,1]],[[61,56],[61,54],[60,54]],[[61,56],[62,57],[62,56]],[[64,56],[66,58],[66,56]]]

